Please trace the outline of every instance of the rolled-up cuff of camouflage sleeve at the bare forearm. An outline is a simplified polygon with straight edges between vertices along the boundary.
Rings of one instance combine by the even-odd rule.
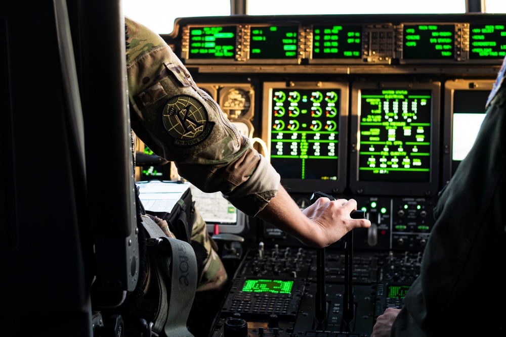
[[[260,155],[255,172],[224,198],[244,214],[256,216],[276,196],[280,179],[272,165]]]

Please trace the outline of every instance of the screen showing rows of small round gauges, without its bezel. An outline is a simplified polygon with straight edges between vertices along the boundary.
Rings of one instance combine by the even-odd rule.
[[[338,179],[340,89],[273,88],[271,164],[281,178]]]

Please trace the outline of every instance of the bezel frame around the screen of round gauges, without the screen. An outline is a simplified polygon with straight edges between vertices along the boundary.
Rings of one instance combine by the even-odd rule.
[[[270,161],[271,153],[271,124],[272,124],[272,93],[275,89],[293,90],[316,90],[316,89],[339,89],[341,90],[339,105],[339,142],[338,142],[338,172],[337,180],[320,179],[296,179],[281,177],[281,184],[292,194],[312,194],[314,191],[322,191],[327,194],[344,192],[346,187],[347,167],[347,139],[348,139],[348,115],[349,115],[349,83],[348,82],[264,82],[263,83],[263,120],[262,139],[266,141],[267,152]]]

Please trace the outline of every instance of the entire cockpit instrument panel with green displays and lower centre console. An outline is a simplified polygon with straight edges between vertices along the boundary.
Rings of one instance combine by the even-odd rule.
[[[223,244],[233,277],[209,337],[367,337],[386,308],[402,307],[438,192],[472,146],[506,56],[504,22],[481,13],[178,19],[163,38],[293,200],[353,198],[371,221],[322,262],[249,219],[244,242]]]

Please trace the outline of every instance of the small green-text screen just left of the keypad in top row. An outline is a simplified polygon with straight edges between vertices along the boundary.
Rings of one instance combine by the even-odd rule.
[[[362,26],[314,26],[313,59],[360,59]]]

